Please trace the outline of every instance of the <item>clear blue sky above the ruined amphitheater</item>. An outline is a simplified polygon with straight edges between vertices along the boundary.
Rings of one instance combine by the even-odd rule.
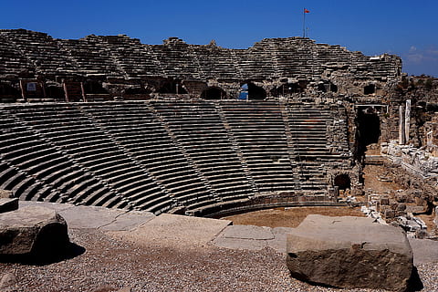
[[[126,34],[146,44],[251,47],[265,37],[308,36],[365,55],[401,56],[403,72],[438,77],[438,1],[389,0],[1,0],[0,28],[57,38]]]

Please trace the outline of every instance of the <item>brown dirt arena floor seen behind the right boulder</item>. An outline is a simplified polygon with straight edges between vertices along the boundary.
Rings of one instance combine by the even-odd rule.
[[[222,219],[233,224],[257,225],[267,227],[297,227],[308,214],[326,216],[364,216],[358,208],[350,207],[292,207],[267,209],[245,214],[226,216]]]

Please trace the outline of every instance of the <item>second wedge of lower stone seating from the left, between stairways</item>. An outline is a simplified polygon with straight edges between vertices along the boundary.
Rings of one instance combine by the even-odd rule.
[[[158,213],[172,207],[172,199],[162,193],[148,173],[76,107],[29,108],[16,116],[31,123],[47,141],[65,151],[84,171],[107,184],[134,207]],[[136,177],[136,181],[131,182],[131,177]],[[99,192],[96,187],[90,190],[93,195]]]

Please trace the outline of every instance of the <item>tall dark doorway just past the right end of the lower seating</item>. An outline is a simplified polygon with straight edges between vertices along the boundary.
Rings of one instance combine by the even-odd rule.
[[[378,143],[381,137],[381,119],[379,112],[372,106],[360,107],[356,118],[357,153],[360,157],[367,151],[367,146]]]

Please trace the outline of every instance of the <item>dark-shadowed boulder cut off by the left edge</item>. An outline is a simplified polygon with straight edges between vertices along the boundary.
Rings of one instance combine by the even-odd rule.
[[[50,260],[68,245],[67,223],[51,209],[27,206],[0,214],[0,258]]]

